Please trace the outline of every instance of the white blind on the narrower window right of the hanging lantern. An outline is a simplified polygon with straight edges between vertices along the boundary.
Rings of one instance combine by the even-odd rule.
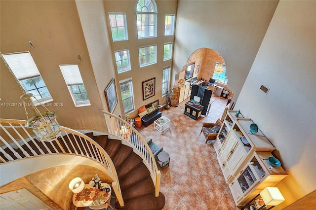
[[[79,67],[77,64],[59,65],[67,85],[83,84]]]

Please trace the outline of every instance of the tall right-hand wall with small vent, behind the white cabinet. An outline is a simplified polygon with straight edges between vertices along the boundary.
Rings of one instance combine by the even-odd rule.
[[[279,210],[316,190],[315,37],[316,1],[280,1],[235,106],[276,146],[289,174],[277,184]]]

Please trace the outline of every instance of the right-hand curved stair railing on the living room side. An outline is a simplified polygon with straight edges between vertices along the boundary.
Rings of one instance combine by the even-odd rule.
[[[155,157],[150,149],[147,141],[139,134],[139,132],[133,128],[122,118],[108,112],[101,110],[105,115],[105,121],[108,127],[108,134],[113,135],[124,141],[134,151],[143,158],[143,162],[151,173],[155,185],[155,196],[159,195],[160,188],[160,171],[158,170]]]

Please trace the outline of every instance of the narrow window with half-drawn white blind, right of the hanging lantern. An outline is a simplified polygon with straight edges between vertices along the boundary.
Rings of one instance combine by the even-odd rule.
[[[75,106],[90,105],[77,64],[59,65]]]

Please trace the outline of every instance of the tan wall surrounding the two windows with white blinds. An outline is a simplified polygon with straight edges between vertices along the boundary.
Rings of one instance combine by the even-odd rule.
[[[53,98],[51,106],[63,126],[106,131],[89,52],[75,1],[1,1],[1,53],[30,51]],[[32,49],[29,40],[34,44]],[[81,61],[78,59],[81,56]],[[78,64],[90,106],[75,107],[59,64]],[[0,98],[3,103],[21,103],[22,91],[0,62]],[[43,110],[41,110],[43,111]],[[28,110],[29,116],[33,113]],[[76,117],[74,117],[76,116]],[[23,107],[0,107],[1,118],[26,119]]]

